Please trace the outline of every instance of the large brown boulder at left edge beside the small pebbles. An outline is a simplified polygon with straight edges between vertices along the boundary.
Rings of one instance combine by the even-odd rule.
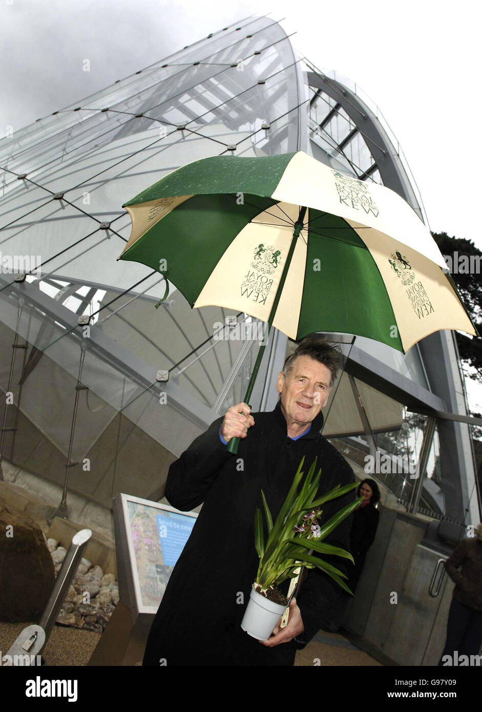
[[[55,583],[41,528],[0,498],[0,620],[36,621]]]

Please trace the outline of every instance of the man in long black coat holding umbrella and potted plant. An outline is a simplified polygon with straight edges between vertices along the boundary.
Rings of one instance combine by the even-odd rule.
[[[274,520],[303,456],[305,471],[318,458],[318,496],[355,482],[345,459],[320,435],[339,358],[319,337],[307,337],[278,376],[281,399],[273,412],[252,415],[246,403],[236,404],[170,466],[169,503],[182,511],[203,506],[152,624],[144,665],[293,665],[295,651],[326,623],[341,588],[313,569],[290,604],[285,628],[261,643],[240,626],[258,570],[253,523],[261,488]],[[241,438],[236,455],[226,451],[233,437]],[[350,491],[326,503],[321,523],[354,499]],[[351,520],[326,542],[350,550]],[[342,558],[326,560],[345,570]]]

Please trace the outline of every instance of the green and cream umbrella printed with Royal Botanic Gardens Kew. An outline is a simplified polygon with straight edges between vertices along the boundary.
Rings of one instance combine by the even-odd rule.
[[[123,207],[119,259],[163,273],[192,307],[232,308],[296,341],[349,333],[402,352],[440,329],[476,335],[409,204],[301,151],[201,159]]]

